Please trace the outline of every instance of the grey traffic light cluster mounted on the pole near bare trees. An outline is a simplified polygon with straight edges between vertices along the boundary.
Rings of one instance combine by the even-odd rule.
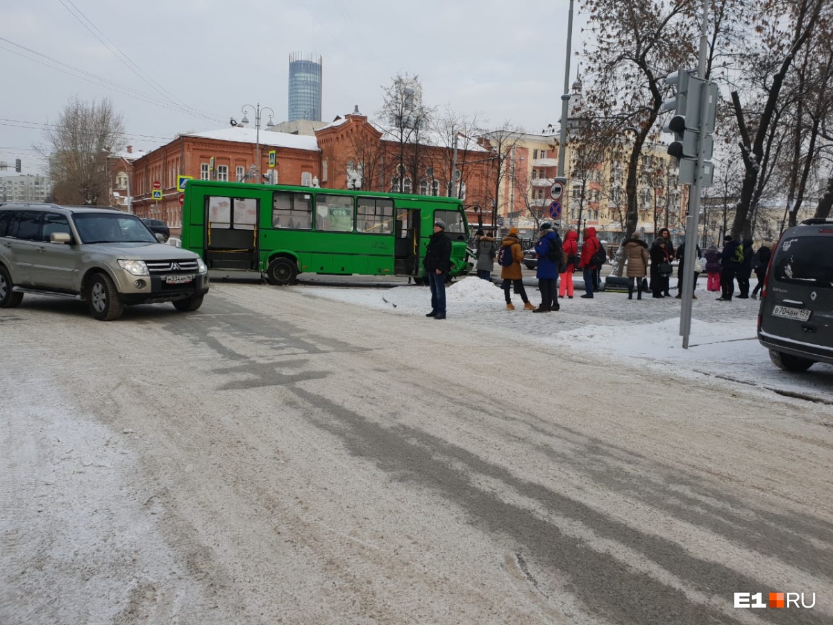
[[[662,104],[663,111],[676,111],[663,128],[674,134],[668,153],[677,159],[680,182],[711,185],[711,156],[714,150],[717,85],[696,77],[693,70],[668,74],[666,84],[676,85],[676,97]]]

